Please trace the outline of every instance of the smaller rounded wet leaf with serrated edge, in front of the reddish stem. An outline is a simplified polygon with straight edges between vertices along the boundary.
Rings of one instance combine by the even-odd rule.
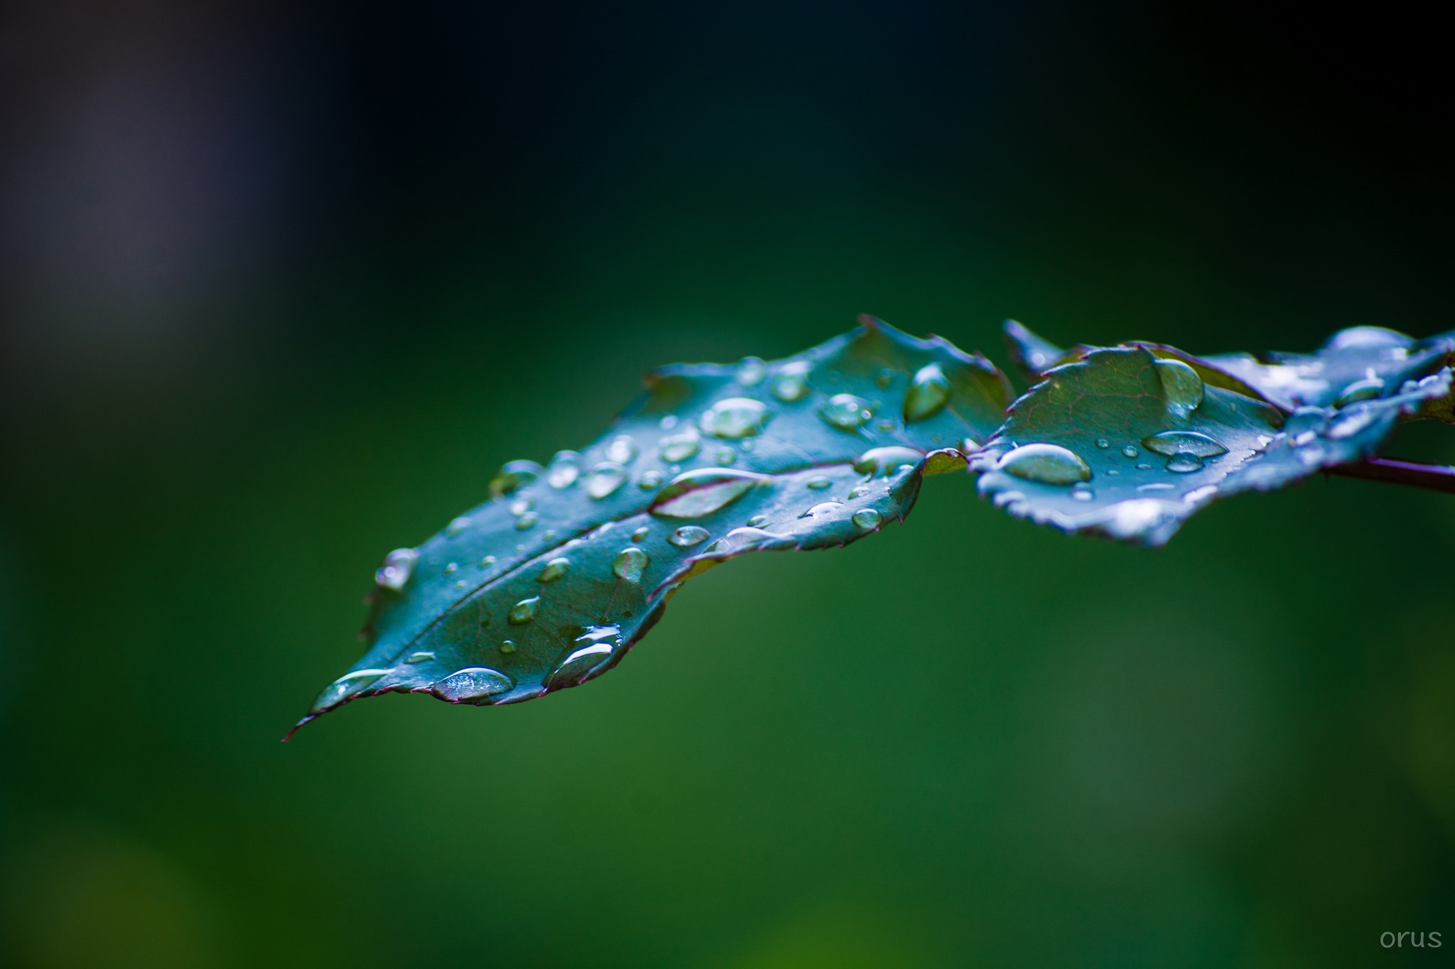
[[[1040,524],[1144,545],[1215,498],[1375,453],[1401,414],[1451,388],[1446,369],[1394,397],[1285,418],[1147,346],[1091,350],[1045,376],[970,459],[981,494]]]

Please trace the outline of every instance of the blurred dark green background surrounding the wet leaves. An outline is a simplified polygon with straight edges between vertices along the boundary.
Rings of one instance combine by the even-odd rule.
[[[278,739],[372,569],[675,360],[873,312],[1304,350],[1449,312],[1385,4],[29,3],[0,80],[0,963],[1366,966],[1455,953],[1455,500],[1164,551],[927,482],[610,676]],[[1455,462],[1455,431],[1395,453]],[[1384,931],[1442,949],[1381,949]]]

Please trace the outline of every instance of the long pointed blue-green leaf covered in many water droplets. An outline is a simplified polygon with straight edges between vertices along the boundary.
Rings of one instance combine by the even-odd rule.
[[[505,465],[489,501],[386,559],[368,654],[300,725],[386,692],[490,705],[579,686],[620,662],[687,578],[902,520],[925,453],[934,471],[963,466],[1011,391],[978,354],[860,323],[774,363],[655,370],[581,453]]]

